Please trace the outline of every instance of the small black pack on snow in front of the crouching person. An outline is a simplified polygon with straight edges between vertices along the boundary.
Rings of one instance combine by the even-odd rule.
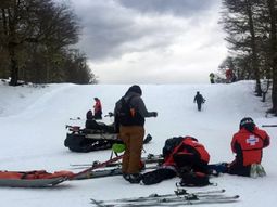
[[[180,174],[180,186],[206,186],[212,184],[209,176],[203,172],[186,172]]]

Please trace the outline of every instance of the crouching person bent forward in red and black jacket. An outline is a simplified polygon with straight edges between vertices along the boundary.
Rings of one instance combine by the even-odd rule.
[[[161,168],[142,176],[143,184],[155,184],[191,171],[204,174],[209,172],[210,154],[196,138],[176,137],[166,140],[163,157]]]

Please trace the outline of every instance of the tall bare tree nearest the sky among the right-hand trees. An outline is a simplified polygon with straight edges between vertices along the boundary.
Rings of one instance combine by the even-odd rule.
[[[255,25],[255,15],[260,3],[259,0],[223,0],[221,23],[228,34],[226,40],[230,43],[230,50],[236,51],[240,56],[251,57],[252,72],[256,81],[256,94],[261,96],[257,53],[260,28],[259,25]]]

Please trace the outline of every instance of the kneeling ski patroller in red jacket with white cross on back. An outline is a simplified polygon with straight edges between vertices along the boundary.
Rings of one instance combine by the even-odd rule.
[[[251,117],[242,118],[239,131],[231,140],[231,151],[236,154],[232,163],[210,166],[219,172],[256,178],[266,176],[261,165],[263,148],[269,146],[270,138],[259,129]]]

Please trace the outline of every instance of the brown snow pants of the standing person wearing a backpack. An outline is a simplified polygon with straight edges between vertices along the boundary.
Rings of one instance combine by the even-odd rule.
[[[123,173],[139,173],[143,138],[144,128],[141,126],[119,127],[119,139],[126,145],[122,161]]]

